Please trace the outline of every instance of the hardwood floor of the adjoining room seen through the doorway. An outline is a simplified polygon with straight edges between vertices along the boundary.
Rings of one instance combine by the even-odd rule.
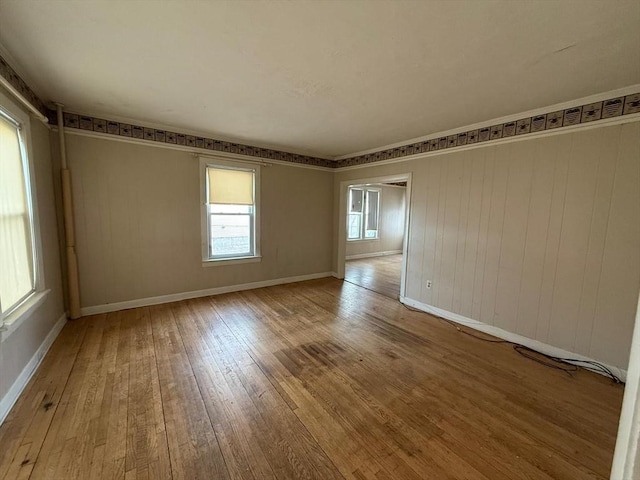
[[[344,279],[387,297],[400,295],[402,254],[348,260]]]

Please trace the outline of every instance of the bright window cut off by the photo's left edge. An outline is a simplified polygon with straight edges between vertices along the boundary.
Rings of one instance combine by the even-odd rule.
[[[23,128],[0,109],[0,326],[36,291],[36,249]]]

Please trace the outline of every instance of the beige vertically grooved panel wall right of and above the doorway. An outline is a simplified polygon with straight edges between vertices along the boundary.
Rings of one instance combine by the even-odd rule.
[[[639,138],[635,122],[338,171],[334,203],[341,181],[412,172],[407,297],[626,368]]]

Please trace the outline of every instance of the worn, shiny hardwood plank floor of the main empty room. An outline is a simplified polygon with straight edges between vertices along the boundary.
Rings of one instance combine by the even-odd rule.
[[[602,479],[622,393],[314,280],[69,322],[0,479]]]

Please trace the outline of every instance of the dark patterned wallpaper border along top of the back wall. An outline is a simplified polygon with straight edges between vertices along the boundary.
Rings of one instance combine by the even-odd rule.
[[[326,168],[334,168],[335,166],[335,162],[333,160],[327,160],[324,158],[282,152],[280,150],[271,150],[269,148],[253,147],[242,143],[225,142],[222,140],[216,140],[215,138],[187,135],[159,128],[144,127],[130,123],[116,122],[114,120],[105,120],[102,118],[91,117],[89,115],[64,112],[64,126],[65,128],[76,128],[78,130],[106,133],[109,135],[128,137],[137,140],[148,140],[151,142],[204,148],[205,150],[218,152],[237,153],[239,155],[248,155],[250,157],[257,157],[264,160],[281,160],[284,162]]]

